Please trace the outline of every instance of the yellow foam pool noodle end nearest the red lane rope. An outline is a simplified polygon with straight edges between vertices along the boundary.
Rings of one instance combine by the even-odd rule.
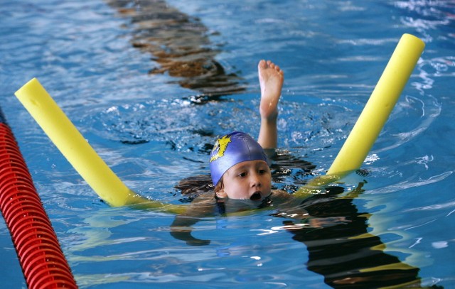
[[[102,200],[114,207],[148,201],[130,190],[112,172],[36,78],[24,84],[15,94]]]

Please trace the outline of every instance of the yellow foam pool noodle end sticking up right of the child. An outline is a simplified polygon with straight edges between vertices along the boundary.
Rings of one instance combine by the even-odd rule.
[[[410,34],[402,36],[327,175],[315,178],[309,187],[325,185],[360,168],[400,98],[424,48],[425,43],[419,38]],[[306,188],[301,187],[296,193],[304,191]]]

